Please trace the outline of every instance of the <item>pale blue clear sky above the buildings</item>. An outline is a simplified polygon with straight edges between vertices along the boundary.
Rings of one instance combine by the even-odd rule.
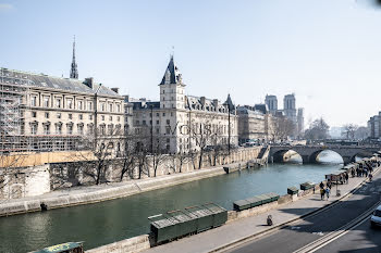
[[[369,0],[370,1],[370,0]],[[186,93],[236,104],[295,93],[306,126],[381,111],[381,9],[367,0],[0,0],[0,66],[159,99],[170,54]]]

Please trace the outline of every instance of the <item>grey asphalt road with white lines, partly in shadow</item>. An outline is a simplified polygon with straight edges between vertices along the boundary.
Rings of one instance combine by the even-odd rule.
[[[381,252],[381,229],[371,230],[368,219],[365,219],[358,227],[354,227],[353,230],[351,227],[343,229],[367,211],[373,208],[380,201],[380,192],[381,176],[379,174],[373,182],[367,182],[354,194],[331,208],[305,217],[303,222],[237,245],[226,252],[352,252],[352,250],[357,249],[360,249],[358,252],[362,252],[362,250]],[[334,187],[332,193],[335,193]],[[364,218],[367,217],[369,215],[364,216]],[[333,238],[331,243],[322,246],[327,243],[323,244],[325,238],[343,230],[346,232],[345,235],[341,235],[337,239]],[[309,249],[306,245],[309,245]],[[378,250],[376,250],[377,248]],[[311,249],[312,251],[310,251]]]

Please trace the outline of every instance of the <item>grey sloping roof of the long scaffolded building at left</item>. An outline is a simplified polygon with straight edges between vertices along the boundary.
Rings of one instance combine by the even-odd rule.
[[[99,84],[93,83],[93,89],[85,85],[85,81],[72,79],[53,77],[44,74],[26,73],[21,71],[11,71],[8,68],[1,68],[1,76],[3,76],[3,81],[15,85],[27,85],[40,88],[51,88],[58,90],[66,90],[73,92],[84,92],[84,93],[95,93],[99,87]],[[116,92],[111,89],[101,86],[99,88],[98,94],[107,96],[118,96]]]

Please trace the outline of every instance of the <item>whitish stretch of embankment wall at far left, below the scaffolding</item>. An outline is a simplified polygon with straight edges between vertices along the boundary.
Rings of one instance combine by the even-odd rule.
[[[0,200],[40,195],[49,191],[49,165],[0,169]]]

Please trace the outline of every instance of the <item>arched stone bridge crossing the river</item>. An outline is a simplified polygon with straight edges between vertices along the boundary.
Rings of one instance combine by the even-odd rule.
[[[340,154],[344,161],[344,165],[354,162],[356,155],[371,156],[380,150],[374,147],[362,146],[271,146],[269,161],[283,162],[284,154],[287,151],[295,151],[302,156],[303,163],[317,163],[317,157],[320,152],[331,150]]]

